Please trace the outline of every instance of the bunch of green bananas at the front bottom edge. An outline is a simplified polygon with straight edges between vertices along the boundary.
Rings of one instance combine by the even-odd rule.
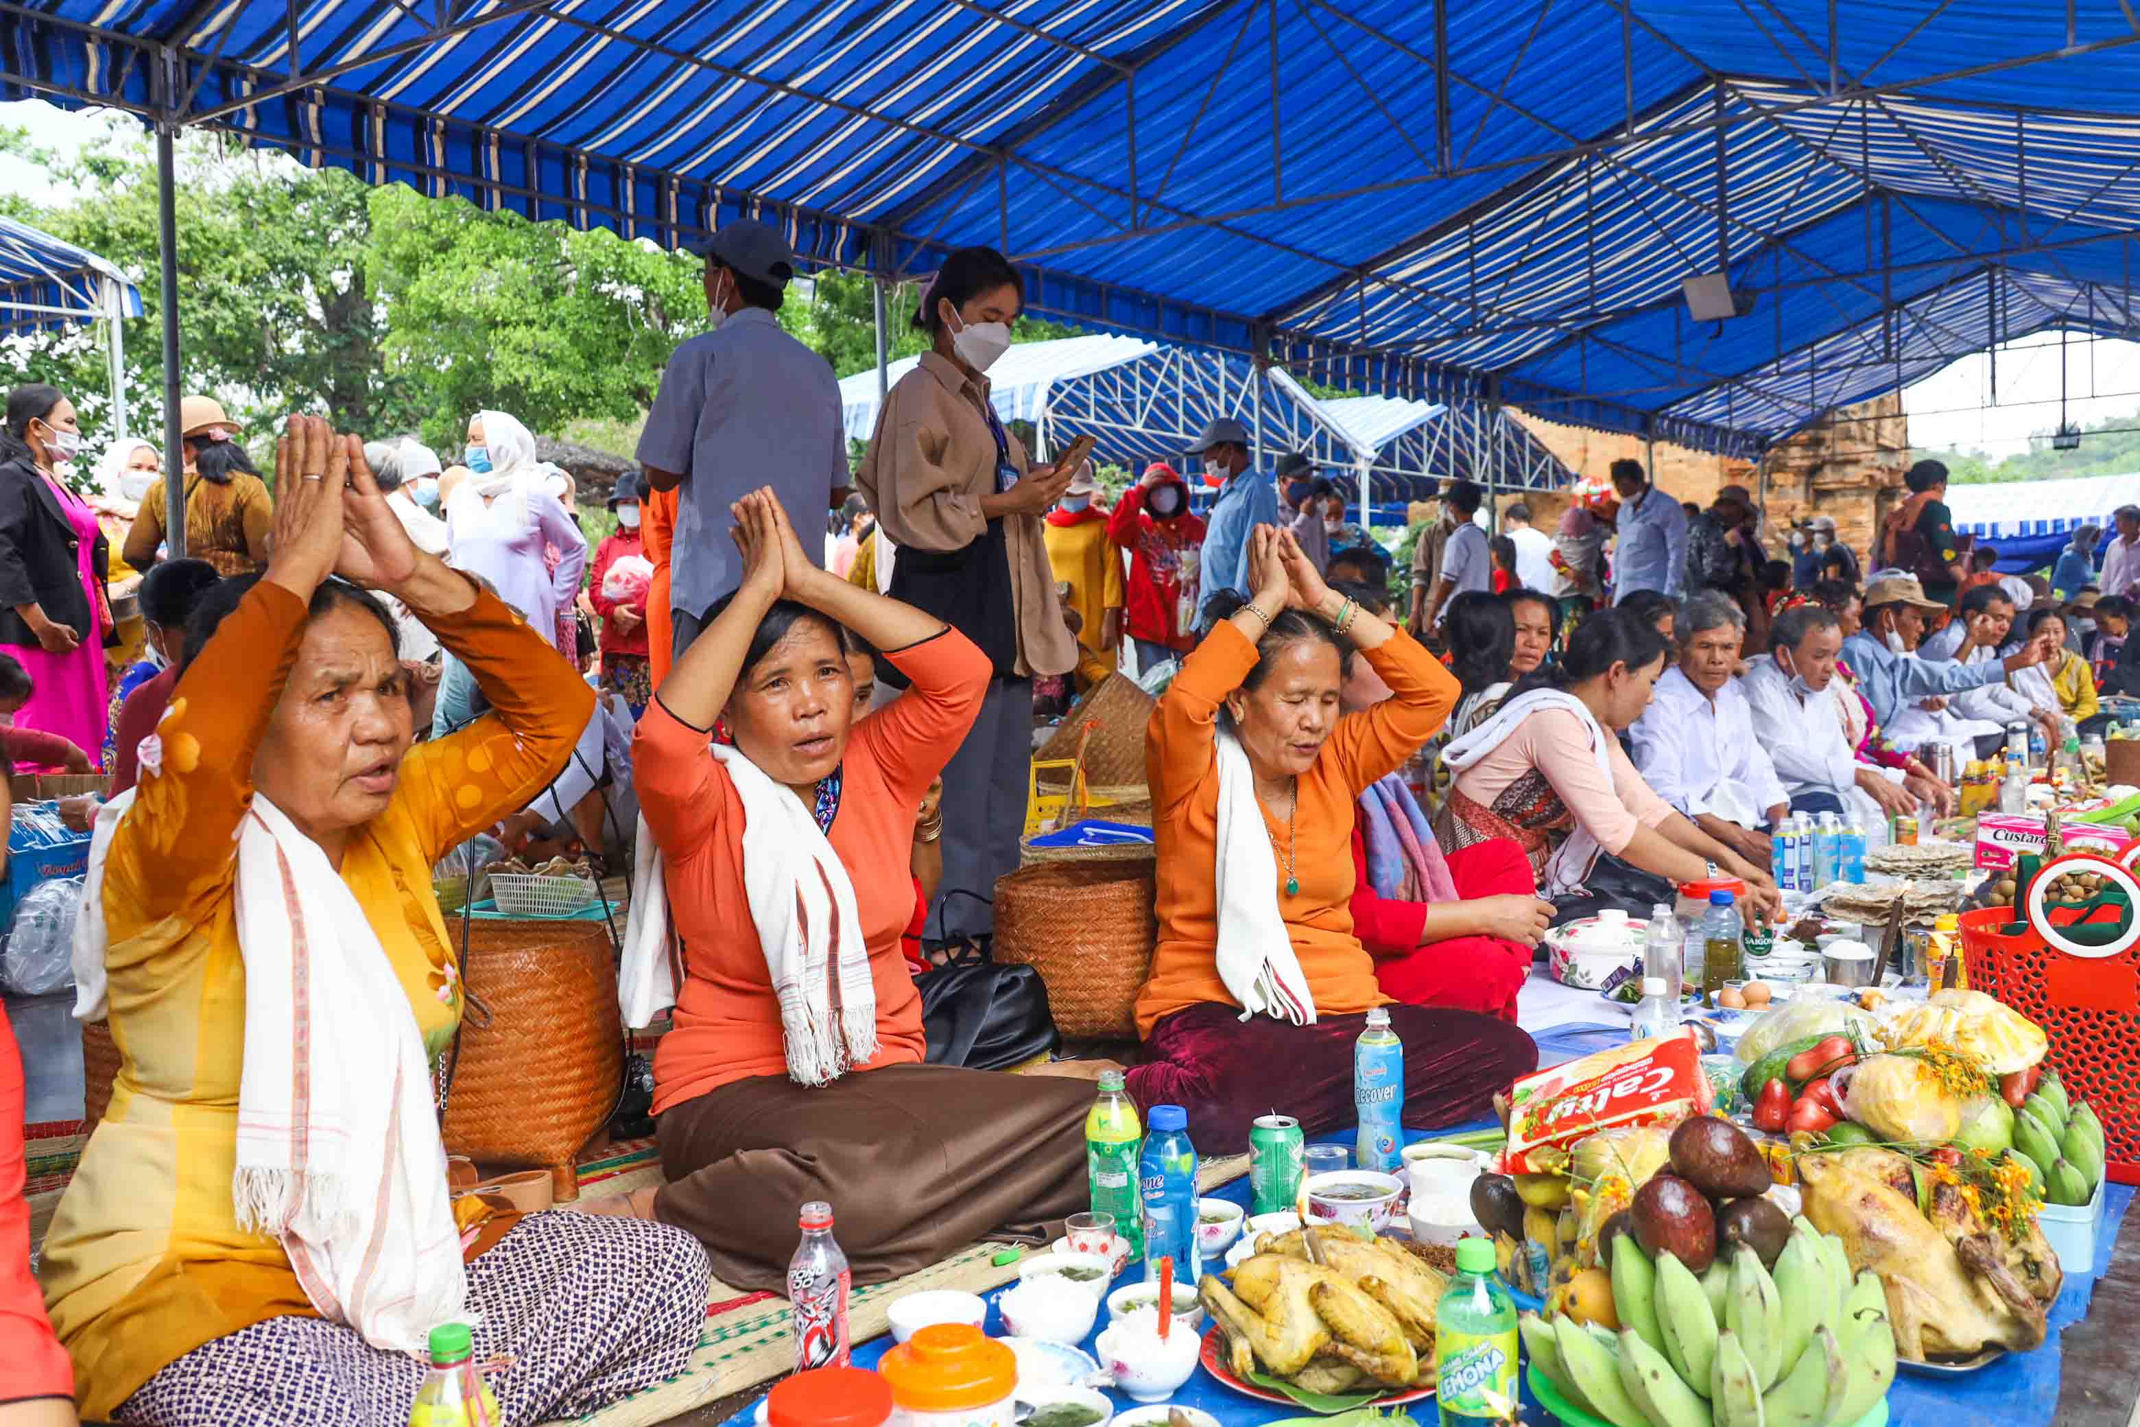
[[[1633,1234],[1611,1245],[1620,1333],[1524,1314],[1532,1365],[1614,1427],[1849,1427],[1894,1382],[1887,1294],[1806,1219],[1774,1271],[1740,1245],[1695,1277]]]

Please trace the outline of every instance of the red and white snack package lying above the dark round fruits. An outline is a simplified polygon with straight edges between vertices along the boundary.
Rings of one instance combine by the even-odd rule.
[[[1686,1031],[1599,1050],[1509,1087],[1502,1168],[1509,1175],[1552,1172],[1566,1166],[1566,1149],[1599,1130],[1678,1125],[1712,1104],[1701,1046]]]

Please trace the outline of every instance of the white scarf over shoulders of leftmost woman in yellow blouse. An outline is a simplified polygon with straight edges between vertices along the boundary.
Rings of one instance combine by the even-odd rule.
[[[154,777],[154,774],[150,774]],[[105,862],[137,789],[96,815],[75,920],[75,1018],[105,1006]],[[304,1296],[372,1348],[464,1318],[460,1228],[409,995],[319,843],[268,798],[238,832],[244,1070],[238,1228],[282,1245]]]

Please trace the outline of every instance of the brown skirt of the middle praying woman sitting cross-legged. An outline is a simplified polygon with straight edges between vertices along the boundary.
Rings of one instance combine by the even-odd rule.
[[[655,1217],[698,1234],[736,1288],[788,1286],[796,1211],[832,1204],[856,1284],[989,1237],[1044,1241],[1087,1209],[1085,1080],[886,1065],[820,1089],[753,1076],[655,1123]]]

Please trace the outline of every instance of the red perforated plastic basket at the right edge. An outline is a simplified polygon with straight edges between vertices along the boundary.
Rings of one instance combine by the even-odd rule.
[[[2140,946],[2116,956],[2069,956],[2033,931],[2001,933],[2012,907],[1962,914],[1969,984],[2035,1021],[2067,1093],[2095,1106],[2110,1179],[2140,1183]],[[2052,926],[2080,920],[2052,907]]]

